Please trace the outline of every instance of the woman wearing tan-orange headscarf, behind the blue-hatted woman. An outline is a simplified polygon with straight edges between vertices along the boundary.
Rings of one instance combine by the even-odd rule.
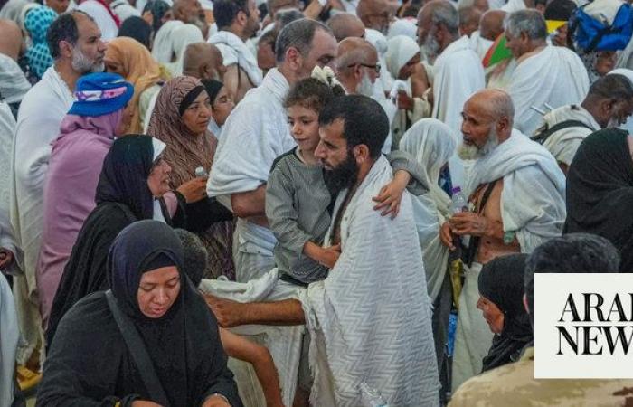
[[[108,42],[104,57],[106,69],[118,73],[134,86],[134,96],[128,104],[132,117],[126,133],[141,133],[143,120],[152,99],[170,74],[152,58],[147,48],[129,37],[118,37]]]

